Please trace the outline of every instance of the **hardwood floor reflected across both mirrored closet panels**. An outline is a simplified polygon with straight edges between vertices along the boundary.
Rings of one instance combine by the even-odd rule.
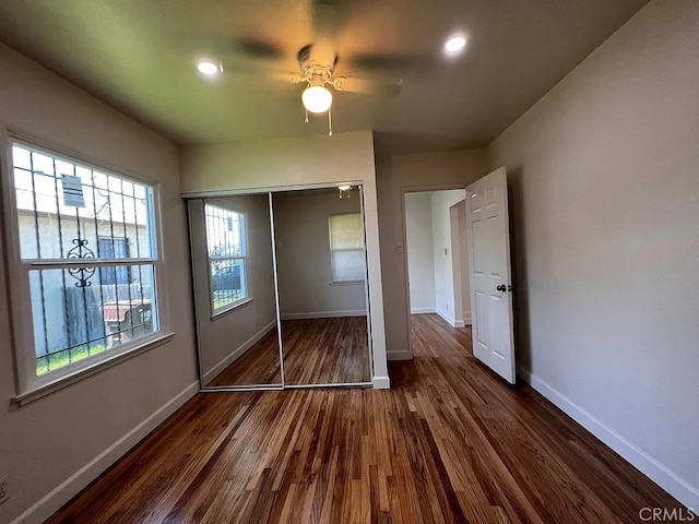
[[[371,382],[366,317],[282,321],[284,377],[289,385]],[[281,384],[276,330],[209,385]]]

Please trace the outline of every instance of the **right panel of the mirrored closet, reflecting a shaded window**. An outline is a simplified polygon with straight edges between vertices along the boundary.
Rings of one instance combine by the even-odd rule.
[[[360,188],[273,194],[284,381],[370,381]]]

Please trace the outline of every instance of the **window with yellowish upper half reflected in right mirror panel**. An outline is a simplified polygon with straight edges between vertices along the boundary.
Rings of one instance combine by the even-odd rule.
[[[330,262],[333,284],[364,282],[366,264],[360,213],[330,216]]]

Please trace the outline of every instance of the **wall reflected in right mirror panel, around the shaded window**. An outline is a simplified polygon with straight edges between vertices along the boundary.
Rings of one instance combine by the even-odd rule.
[[[364,283],[331,285],[330,215],[359,213],[359,192],[275,193],[273,203],[282,319],[367,314]]]

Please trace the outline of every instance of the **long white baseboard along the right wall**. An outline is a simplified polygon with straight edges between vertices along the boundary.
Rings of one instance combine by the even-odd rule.
[[[590,412],[576,404],[540,378],[533,376],[530,371],[520,368],[519,376],[566,415],[612,448],[633,467],[675,497],[679,502],[687,508],[699,509],[699,488],[689,484],[662,462],[627,440],[624,436],[617,433],[601,420],[597,420]]]

